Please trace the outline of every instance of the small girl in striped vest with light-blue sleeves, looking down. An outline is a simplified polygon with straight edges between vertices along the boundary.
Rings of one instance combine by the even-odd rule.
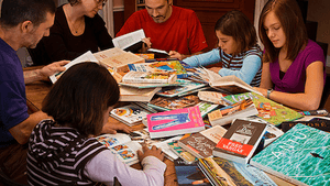
[[[262,51],[256,44],[256,32],[248,17],[238,10],[229,11],[217,21],[215,31],[218,48],[183,62],[194,67],[221,62],[222,68],[210,69],[221,76],[235,75],[251,86],[258,86]]]

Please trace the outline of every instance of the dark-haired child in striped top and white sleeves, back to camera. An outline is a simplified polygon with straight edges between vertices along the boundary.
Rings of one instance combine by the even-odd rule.
[[[144,145],[144,153],[138,151],[141,171],[121,162],[95,138],[108,124],[119,91],[107,68],[91,62],[72,66],[56,81],[42,109],[54,120],[41,121],[29,141],[30,185],[112,185],[114,177],[122,186],[164,185],[161,149]]]

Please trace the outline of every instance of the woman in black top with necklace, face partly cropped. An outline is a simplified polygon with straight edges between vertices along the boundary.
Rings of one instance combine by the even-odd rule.
[[[32,53],[44,56],[36,65],[73,61],[87,51],[92,53],[113,47],[106,23],[98,14],[107,0],[68,0],[57,8],[51,34]],[[44,53],[44,54],[41,54]],[[33,58],[34,59],[34,58]]]

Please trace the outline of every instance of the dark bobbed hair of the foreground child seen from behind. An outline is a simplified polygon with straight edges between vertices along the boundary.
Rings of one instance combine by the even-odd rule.
[[[98,135],[105,111],[119,100],[119,87],[108,69],[86,62],[72,66],[43,100],[42,111],[59,125]]]

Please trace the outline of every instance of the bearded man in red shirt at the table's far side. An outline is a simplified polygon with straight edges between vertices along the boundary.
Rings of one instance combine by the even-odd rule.
[[[201,24],[193,10],[173,6],[173,0],[145,0],[145,9],[134,12],[116,36],[144,30],[147,47],[169,52],[183,59],[207,48]]]

